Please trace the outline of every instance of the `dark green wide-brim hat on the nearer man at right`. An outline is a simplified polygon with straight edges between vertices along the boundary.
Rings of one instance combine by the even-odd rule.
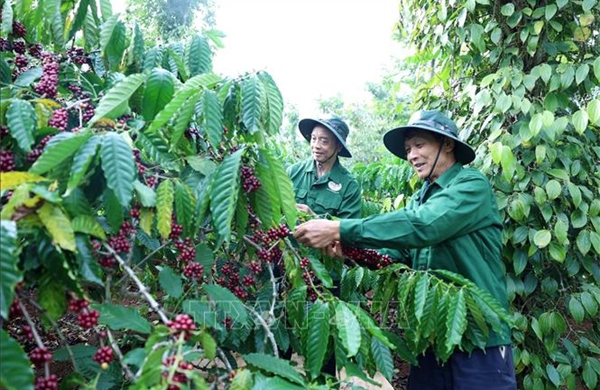
[[[384,134],[385,147],[406,160],[404,141],[407,130],[427,130],[444,135],[454,140],[454,156],[463,164],[468,164],[475,159],[475,151],[458,137],[458,127],[450,118],[438,110],[422,110],[415,112],[406,126],[396,127]]]

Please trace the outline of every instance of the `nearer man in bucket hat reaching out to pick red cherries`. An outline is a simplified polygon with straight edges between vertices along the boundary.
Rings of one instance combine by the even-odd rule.
[[[456,124],[437,110],[416,112],[408,125],[388,131],[383,142],[408,161],[424,185],[407,206],[364,219],[314,219],[299,225],[296,239],[338,255],[343,246],[392,249],[414,269],[459,273],[508,307],[501,259],[502,225],[488,179],[463,165],[475,159]],[[427,351],[411,367],[408,389],[516,389],[507,324],[490,331],[485,349],[456,350],[441,365]]]

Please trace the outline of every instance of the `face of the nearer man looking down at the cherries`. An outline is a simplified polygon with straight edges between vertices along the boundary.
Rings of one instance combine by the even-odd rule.
[[[433,133],[425,130],[418,130],[414,135],[404,140],[406,150],[406,160],[413,167],[420,179],[426,179],[435,163],[435,157],[440,150],[441,140]],[[435,169],[431,173],[430,179],[437,179],[442,173],[446,172],[455,162],[454,142],[446,138],[444,147],[440,152]]]

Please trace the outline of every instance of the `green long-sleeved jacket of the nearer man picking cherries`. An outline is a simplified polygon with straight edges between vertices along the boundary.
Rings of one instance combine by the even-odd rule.
[[[508,307],[502,224],[488,179],[456,163],[429,186],[421,202],[420,196],[394,212],[342,220],[342,243],[394,249],[407,254],[413,269],[461,274]],[[490,331],[488,347],[508,344],[507,325],[502,334]]]

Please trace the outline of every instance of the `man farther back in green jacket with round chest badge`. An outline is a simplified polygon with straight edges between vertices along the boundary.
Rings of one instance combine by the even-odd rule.
[[[287,170],[298,209],[321,217],[360,218],[360,186],[338,158],[352,157],[346,147],[348,125],[337,117],[306,118],[298,128],[312,152],[310,159]]]

